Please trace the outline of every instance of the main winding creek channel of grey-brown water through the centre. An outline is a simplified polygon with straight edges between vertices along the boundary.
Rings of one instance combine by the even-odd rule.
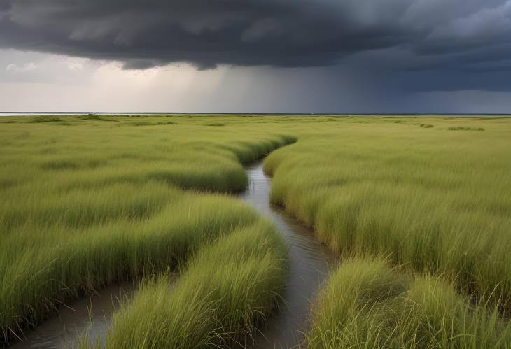
[[[293,348],[300,344],[303,332],[307,331],[311,300],[337,259],[317,241],[311,229],[269,203],[272,179],[262,171],[262,162],[247,166],[246,173],[249,185],[239,198],[274,222],[290,253],[290,274],[281,311],[255,339],[256,348]]]

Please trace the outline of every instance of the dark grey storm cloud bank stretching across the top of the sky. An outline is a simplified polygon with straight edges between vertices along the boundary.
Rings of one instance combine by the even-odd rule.
[[[127,69],[330,66],[399,49],[411,54],[387,56],[395,68],[503,70],[510,43],[507,0],[0,0],[0,47]]]

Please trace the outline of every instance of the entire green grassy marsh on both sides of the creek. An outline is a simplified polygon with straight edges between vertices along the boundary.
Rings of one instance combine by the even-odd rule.
[[[242,163],[293,143],[265,160],[272,201],[342,261],[308,346],[510,345],[511,119],[0,122],[4,339],[58,301],[134,278],[107,346],[244,343],[275,308],[286,254],[272,225],[222,193],[246,186]]]

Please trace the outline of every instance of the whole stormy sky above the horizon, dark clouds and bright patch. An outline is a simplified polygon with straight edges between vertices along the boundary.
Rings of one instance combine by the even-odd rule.
[[[511,113],[511,0],[0,0],[0,111]]]

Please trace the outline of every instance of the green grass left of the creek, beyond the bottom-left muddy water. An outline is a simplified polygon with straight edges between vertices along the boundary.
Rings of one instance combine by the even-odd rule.
[[[202,191],[244,189],[241,162],[294,141],[200,125],[117,126],[129,120],[66,117],[76,127],[35,122],[0,129],[0,343],[62,302],[118,280],[180,269],[218,236],[255,225],[258,216],[244,204]],[[278,260],[260,262],[281,263],[275,253]],[[260,276],[265,292],[276,294],[281,273],[279,266]],[[274,299],[257,306],[253,311],[272,308]]]

